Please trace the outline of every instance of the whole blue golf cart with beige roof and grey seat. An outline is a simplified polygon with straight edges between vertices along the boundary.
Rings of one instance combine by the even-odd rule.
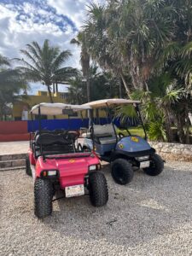
[[[141,168],[148,175],[156,176],[162,172],[164,167],[163,160],[155,154],[155,149],[151,148],[147,142],[147,133],[143,125],[139,103],[139,101],[125,99],[106,99],[83,105],[90,106],[92,110],[107,108],[111,124],[94,125],[91,121],[91,136],[84,135],[84,148],[94,148],[101,160],[111,163],[113,179],[119,184],[131,182],[133,169]],[[127,136],[121,132],[117,133],[110,107],[127,104],[136,108],[138,119],[143,127],[144,138],[131,135],[128,129],[126,129]]]

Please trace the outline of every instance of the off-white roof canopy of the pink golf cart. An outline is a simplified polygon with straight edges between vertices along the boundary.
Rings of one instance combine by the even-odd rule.
[[[38,108],[40,107],[41,114],[46,115],[59,115],[63,114],[63,109],[72,109],[73,111],[82,111],[85,109],[90,109],[89,106],[83,105],[70,105],[64,103],[39,103],[32,107],[31,113],[38,114]]]

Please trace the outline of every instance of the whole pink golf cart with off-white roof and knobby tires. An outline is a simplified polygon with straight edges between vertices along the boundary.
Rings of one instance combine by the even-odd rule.
[[[107,181],[103,173],[98,172],[100,160],[94,150],[84,152],[77,141],[79,132],[42,129],[42,114],[68,114],[69,121],[73,111],[88,109],[88,106],[40,103],[31,110],[32,114],[38,115],[38,131],[30,135],[26,174],[34,180],[34,212],[38,218],[51,214],[52,198],[58,189],[64,191],[64,197],[84,195],[88,191],[95,207],[108,202]]]

